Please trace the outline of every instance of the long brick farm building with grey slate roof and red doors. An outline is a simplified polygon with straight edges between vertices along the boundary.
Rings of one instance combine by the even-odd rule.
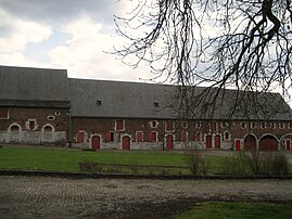
[[[67,78],[65,69],[0,66],[0,143],[72,144],[93,150],[290,150],[292,111],[278,93],[263,94],[255,114],[180,118],[176,86]],[[198,88],[200,89],[200,88]],[[272,108],[272,113],[271,113]]]

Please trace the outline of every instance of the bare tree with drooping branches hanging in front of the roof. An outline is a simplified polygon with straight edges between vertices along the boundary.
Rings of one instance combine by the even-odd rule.
[[[261,108],[253,111],[263,113],[266,100],[258,101],[263,93],[276,89],[289,96],[291,0],[136,2],[127,16],[116,16],[117,33],[129,40],[116,53],[134,67],[148,63],[154,79],[180,85],[177,95],[182,114],[214,116],[216,108],[224,107],[218,100],[226,95],[233,102],[226,110],[230,115],[240,105],[259,105],[261,101]],[[236,89],[236,94],[226,93],[226,88]],[[213,111],[205,111],[210,106]]]

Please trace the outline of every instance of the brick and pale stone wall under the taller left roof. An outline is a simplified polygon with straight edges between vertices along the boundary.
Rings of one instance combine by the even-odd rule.
[[[8,110],[9,117],[0,119],[0,142],[39,144],[67,141],[68,110],[35,107]],[[17,128],[16,131],[14,128]]]

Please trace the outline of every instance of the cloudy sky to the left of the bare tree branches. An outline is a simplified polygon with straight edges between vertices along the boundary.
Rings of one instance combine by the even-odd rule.
[[[150,69],[123,64],[114,14],[123,0],[0,0],[0,65],[63,68],[74,78],[143,81]]]

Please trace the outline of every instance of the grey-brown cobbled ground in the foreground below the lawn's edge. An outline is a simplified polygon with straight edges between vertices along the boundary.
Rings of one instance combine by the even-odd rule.
[[[292,181],[0,176],[0,218],[169,218],[205,201],[292,205]]]

